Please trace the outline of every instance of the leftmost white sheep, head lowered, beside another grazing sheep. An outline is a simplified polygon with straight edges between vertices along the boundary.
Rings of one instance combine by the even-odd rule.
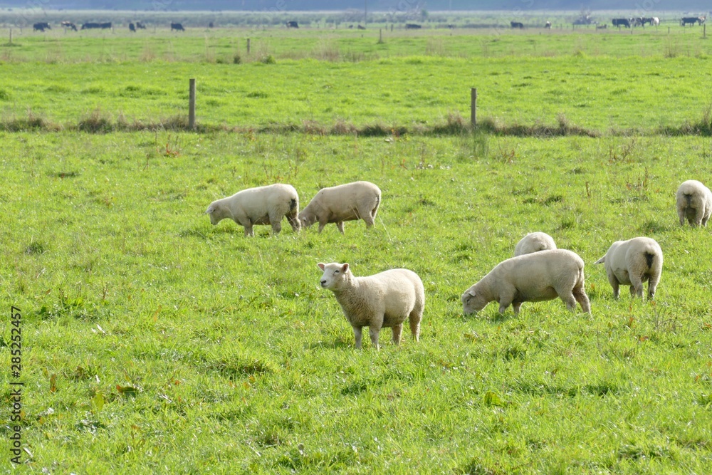
[[[254,224],[271,224],[274,234],[282,230],[282,218],[287,216],[292,229],[298,232],[299,197],[289,184],[277,183],[266,187],[244,189],[231,197],[210,204],[204,214],[210,215],[211,224],[226,218],[245,227],[245,236],[254,236]]]

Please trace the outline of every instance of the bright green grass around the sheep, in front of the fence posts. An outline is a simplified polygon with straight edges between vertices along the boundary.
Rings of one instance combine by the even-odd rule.
[[[33,471],[712,466],[709,232],[681,228],[674,212],[679,182],[707,176],[709,139],[0,140],[2,301],[23,310]],[[244,187],[288,182],[304,206],[353,179],[383,190],[374,229],[275,237],[258,226],[246,239],[201,215]],[[525,303],[517,318],[494,305],[463,318],[464,289],[535,230],[586,261],[592,316],[551,301]],[[656,301],[613,301],[591,263],[639,235],[664,251]],[[350,262],[356,275],[417,271],[421,342],[405,335],[395,348],[385,331],[382,350],[355,351],[335,298],[318,288],[319,261]]]

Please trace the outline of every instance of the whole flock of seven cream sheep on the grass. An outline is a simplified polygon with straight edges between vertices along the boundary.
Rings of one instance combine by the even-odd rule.
[[[370,182],[353,182],[320,189],[309,204],[299,212],[299,197],[288,184],[245,189],[231,197],[210,204],[206,214],[212,224],[226,218],[244,226],[245,235],[253,236],[253,225],[270,224],[273,232],[281,231],[286,216],[294,231],[319,223],[319,232],[335,223],[343,234],[344,221],[363,219],[373,226],[381,190]],[[680,225],[685,220],[692,226],[707,226],[712,214],[712,192],[701,182],[688,180],[676,194]],[[630,286],[631,296],[643,296],[643,283],[648,282],[647,298],[655,296],[663,266],[663,253],[658,243],[648,237],[616,241],[605,256],[595,263],[603,263],[614,298],[619,297],[619,286]],[[409,320],[414,340],[420,334],[420,321],[425,308],[425,291],[417,273],[396,268],[373,276],[356,277],[348,263],[318,263],[323,271],[321,287],[332,291],[346,320],[353,328],[356,348],[361,348],[362,328],[369,328],[375,348],[379,348],[381,328],[390,327],[393,343],[400,342],[403,323]],[[471,314],[488,303],[499,303],[499,312],[512,306],[519,313],[523,302],[549,301],[560,298],[568,310],[575,311],[576,303],[591,313],[585,292],[584,262],[573,251],[557,249],[551,236],[543,232],[524,236],[515,246],[514,257],[495,266],[478,283],[468,288],[461,297],[463,311]]]

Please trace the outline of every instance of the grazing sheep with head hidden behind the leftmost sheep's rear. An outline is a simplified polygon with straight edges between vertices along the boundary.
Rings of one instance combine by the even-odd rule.
[[[373,226],[381,190],[370,182],[353,182],[337,187],[322,188],[299,214],[302,226],[308,228],[319,221],[319,232],[329,223],[336,223],[344,234],[344,221],[363,219],[366,227]]]

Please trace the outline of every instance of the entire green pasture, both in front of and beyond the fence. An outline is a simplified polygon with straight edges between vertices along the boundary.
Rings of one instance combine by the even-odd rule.
[[[710,231],[679,226],[674,209],[682,181],[712,182],[712,138],[684,133],[708,130],[705,41],[686,56],[664,51],[687,44],[681,31],[456,32],[472,48],[496,38],[516,47],[431,54],[429,42],[447,51],[449,36],[402,33],[411,44],[387,38],[398,51],[350,61],[316,58],[313,32],[274,33],[285,43],[266,28],[274,63],[216,61],[257,38],[237,31],[170,36],[172,59],[141,57],[166,43],[124,33],[35,34],[6,47],[0,290],[5,311],[22,310],[21,469],[711,471]],[[377,41],[328,34],[340,54]],[[303,57],[278,50],[287,40]],[[553,53],[522,53],[532,41]],[[585,51],[573,51],[579,41]],[[206,43],[228,46],[205,56]],[[184,113],[189,77],[199,132],[131,127]],[[438,132],[468,117],[473,85],[483,119],[565,121],[595,136]],[[80,130],[92,116],[105,133]],[[338,132],[344,123],[358,130]],[[379,134],[358,133],[374,124]],[[320,187],[357,179],[383,192],[373,229],[285,225],[271,236],[256,226],[247,239],[201,214],[246,187],[293,184],[304,207]],[[530,231],[584,259],[592,315],[557,300],[524,303],[517,317],[494,303],[464,317],[461,293]],[[654,302],[627,288],[614,301],[592,264],[634,236],[664,252]],[[330,261],[357,276],[419,273],[421,341],[404,332],[395,347],[386,329],[381,350],[354,350],[318,286],[316,263]],[[7,322],[0,464],[11,471]]]

